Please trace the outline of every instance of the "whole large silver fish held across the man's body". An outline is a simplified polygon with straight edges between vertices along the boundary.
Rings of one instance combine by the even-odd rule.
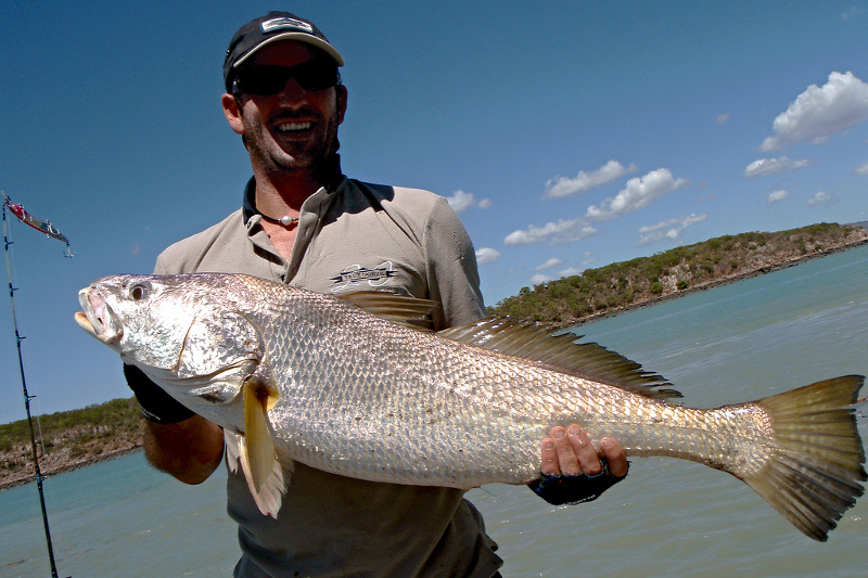
[[[494,319],[431,333],[413,326],[430,301],[352,299],[245,275],[118,275],[81,290],[76,320],[225,428],[266,514],[294,461],[374,481],[527,484],[540,440],[571,423],[628,455],[729,472],[817,540],[864,492],[861,376],[689,409],[659,375],[572,335]]]

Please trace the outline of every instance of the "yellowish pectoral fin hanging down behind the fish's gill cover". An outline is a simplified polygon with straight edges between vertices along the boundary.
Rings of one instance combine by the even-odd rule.
[[[277,517],[284,491],[283,470],[268,427],[268,409],[277,401],[277,390],[256,375],[243,385],[244,437],[238,454],[253,499],[263,514]]]

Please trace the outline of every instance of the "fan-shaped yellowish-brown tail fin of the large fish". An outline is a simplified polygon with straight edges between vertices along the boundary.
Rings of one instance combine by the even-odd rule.
[[[853,404],[865,377],[817,382],[756,402],[775,442],[768,462],[744,481],[802,532],[826,541],[865,492],[865,450]]]

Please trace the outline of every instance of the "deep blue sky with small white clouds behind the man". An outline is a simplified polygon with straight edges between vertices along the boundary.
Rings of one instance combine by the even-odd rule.
[[[488,304],[712,236],[868,218],[866,1],[56,4],[0,1],[0,190],[76,252],[10,223],[36,413],[129,395],[74,323],[77,292],[150,272],[239,205],[222,55],[269,10],[347,61],[345,172],[449,197]],[[0,363],[5,423],[24,418],[5,306]]]

